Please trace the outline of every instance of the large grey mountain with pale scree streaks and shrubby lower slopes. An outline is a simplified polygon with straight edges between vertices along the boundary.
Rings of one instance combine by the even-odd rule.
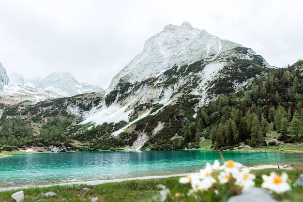
[[[28,138],[23,142],[39,147],[192,148],[196,145],[195,131],[189,132],[189,128],[201,122],[205,128],[200,132],[204,133],[210,124],[227,121],[231,113],[228,103],[235,96],[251,97],[248,90],[252,83],[263,82],[260,79],[275,71],[278,70],[251,48],[192,28],[186,22],[181,26],[168,25],[147,40],[143,51],[112,79],[106,91],[30,106],[4,106],[0,124],[8,118],[22,117],[15,124],[21,127],[26,120],[24,127],[26,131],[32,128],[33,134],[24,135]],[[69,76],[63,78],[74,82]],[[66,85],[63,78],[54,74],[41,80],[45,85],[40,81],[32,83],[59,92],[57,89]],[[61,84],[56,85],[57,82]],[[224,96],[228,98],[220,99]],[[258,96],[252,97],[257,97],[257,103]],[[263,107],[262,100],[258,103]],[[209,114],[211,110],[205,112],[212,117],[207,124],[204,118],[202,121],[206,117],[201,112],[204,106],[213,108],[213,115]]]

